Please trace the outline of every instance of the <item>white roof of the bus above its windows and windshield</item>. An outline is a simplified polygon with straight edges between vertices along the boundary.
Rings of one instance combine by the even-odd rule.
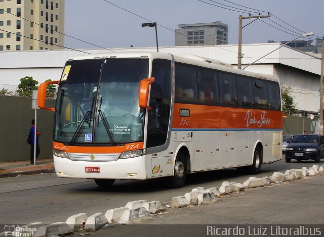
[[[150,59],[159,58],[159,59],[171,60],[171,55],[172,54],[169,53],[157,53],[157,52],[156,53],[155,52],[111,52],[111,53],[76,56],[68,59],[68,61],[87,60],[87,59],[105,59],[105,58],[107,59],[108,58],[150,58]],[[274,75],[239,70],[233,68],[233,65],[231,64],[224,63],[215,59],[209,59],[209,58],[204,58],[204,57],[190,55],[190,54],[173,55],[173,56],[175,62],[179,62],[179,63],[191,64],[191,65],[196,65],[205,68],[213,68],[216,70],[226,71],[237,75],[257,77],[260,79],[279,82],[279,79]]]

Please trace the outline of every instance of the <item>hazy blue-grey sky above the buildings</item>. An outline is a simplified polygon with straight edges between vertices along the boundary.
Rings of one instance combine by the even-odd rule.
[[[239,15],[268,12],[270,18],[242,20],[242,43],[288,41],[313,32],[314,36],[299,39],[314,39],[315,45],[315,38],[324,36],[323,10],[323,0],[65,0],[64,33],[89,43],[65,36],[64,45],[72,49],[156,46],[154,27],[141,27],[156,22],[158,45],[174,46],[178,24],[216,21],[228,25],[228,43],[237,44]]]

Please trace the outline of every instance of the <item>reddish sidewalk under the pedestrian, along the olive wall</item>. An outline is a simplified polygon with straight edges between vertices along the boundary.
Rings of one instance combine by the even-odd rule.
[[[53,159],[37,159],[36,165],[31,165],[29,160],[0,162],[0,178],[15,177],[20,174],[51,173],[54,170]]]

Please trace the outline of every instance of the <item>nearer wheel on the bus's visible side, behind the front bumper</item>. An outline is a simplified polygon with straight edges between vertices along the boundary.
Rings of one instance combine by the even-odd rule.
[[[174,188],[184,185],[187,176],[186,160],[182,153],[178,153],[174,163],[174,175],[171,177],[171,184]]]

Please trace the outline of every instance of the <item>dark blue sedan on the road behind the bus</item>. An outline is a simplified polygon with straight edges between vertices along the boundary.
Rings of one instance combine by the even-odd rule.
[[[319,163],[324,157],[324,137],[318,134],[296,135],[286,148],[286,162],[314,160]]]

